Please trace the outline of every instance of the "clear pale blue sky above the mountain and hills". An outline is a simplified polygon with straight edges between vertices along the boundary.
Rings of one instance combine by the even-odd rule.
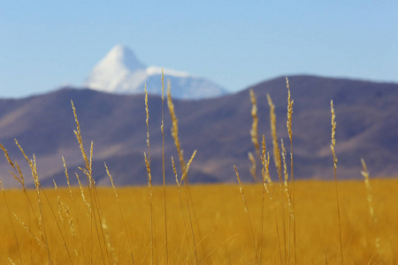
[[[1,1],[0,97],[80,86],[115,45],[237,91],[299,73],[398,82],[398,1]]]

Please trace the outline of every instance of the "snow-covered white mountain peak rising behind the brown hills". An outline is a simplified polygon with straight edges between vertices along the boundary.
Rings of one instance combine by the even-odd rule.
[[[227,93],[223,87],[188,72],[169,69],[164,72],[165,82],[171,81],[173,97],[203,99]],[[115,94],[142,94],[147,84],[149,93],[160,95],[161,77],[161,67],[146,66],[135,57],[133,50],[116,45],[96,64],[83,86]]]

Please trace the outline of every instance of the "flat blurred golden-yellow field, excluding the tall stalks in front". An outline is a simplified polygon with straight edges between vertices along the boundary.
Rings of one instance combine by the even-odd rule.
[[[375,216],[378,218],[375,228],[369,213],[366,189],[362,181],[341,181],[338,184],[341,198],[341,229],[345,264],[396,264],[398,246],[398,180],[375,179],[371,181]],[[334,183],[324,181],[298,181],[295,185],[296,250],[297,264],[337,264],[339,261],[339,234],[334,199]],[[190,186],[190,206],[195,208],[193,224],[197,259],[203,264],[247,264],[255,262],[254,246],[249,230],[249,220],[243,209],[239,186],[211,185]],[[51,213],[46,194],[51,203]],[[45,190],[42,193],[43,226],[49,240],[50,260],[56,264],[90,263],[108,264],[119,261],[132,263],[126,236],[131,240],[134,263],[150,263],[150,218],[148,187],[127,187],[119,189],[120,206],[126,221],[123,225],[118,203],[111,188],[98,188],[97,194],[106,228],[90,228],[88,208],[80,197],[79,188],[73,188],[74,203],[69,190],[59,189],[58,193],[70,210],[75,237],[71,224],[63,212],[65,224],[62,224],[57,212],[57,193]],[[261,213],[260,185],[244,186],[249,204],[249,213],[256,232],[258,244],[259,220]],[[30,227],[32,233],[40,238],[39,229],[32,212],[28,211],[27,197],[22,191],[6,191],[6,198],[15,213]],[[38,218],[38,204],[35,191],[28,191]],[[86,196],[88,193],[86,191]],[[163,187],[154,187],[154,263],[165,263],[165,223],[163,215]],[[170,264],[195,264],[192,237],[188,225],[187,211],[184,207],[184,228],[180,199],[176,186],[168,186],[167,232],[168,261]],[[89,200],[89,199],[88,199]],[[184,199],[185,200],[185,199]],[[183,200],[183,202],[184,202]],[[277,205],[279,237],[283,238],[281,208]],[[19,250],[23,263],[49,262],[46,249],[39,246],[37,240],[12,216],[19,246],[13,235],[4,197],[0,199],[0,263],[10,262],[11,258],[19,263]],[[27,214],[30,212],[30,218]],[[264,235],[262,245],[262,263],[279,264],[279,244],[277,239],[275,215],[272,201],[265,198]],[[286,218],[287,220],[287,218]],[[59,229],[57,227],[59,224]],[[286,223],[288,225],[288,223]],[[95,225],[93,225],[95,226]],[[93,231],[93,232],[91,232]],[[105,236],[101,231],[104,231]],[[288,233],[288,229],[286,229]],[[61,233],[63,236],[61,236]],[[109,235],[109,240],[103,239]],[[64,238],[62,238],[64,237]],[[92,239],[91,239],[92,237]],[[100,239],[98,239],[100,237]],[[287,234],[288,239],[288,234]],[[379,239],[379,252],[375,240]],[[288,247],[285,255],[282,240],[282,259],[288,259]],[[100,243],[98,243],[100,242]],[[110,246],[104,246],[108,242]],[[66,251],[66,247],[68,251]],[[288,244],[287,244],[288,245]],[[286,246],[287,246],[286,245]],[[257,246],[257,249],[259,246]],[[290,245],[293,253],[293,244]],[[113,249],[113,250],[112,250]],[[68,255],[69,252],[69,255]],[[84,253],[84,254],[83,254]],[[112,256],[113,255],[113,256]],[[293,264],[293,254],[290,254]],[[288,260],[287,260],[288,261]]]

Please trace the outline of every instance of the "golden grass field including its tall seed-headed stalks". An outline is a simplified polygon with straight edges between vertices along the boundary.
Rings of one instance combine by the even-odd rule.
[[[279,144],[268,96],[274,174],[269,171],[271,155],[264,137],[261,143],[258,140],[256,96],[250,91],[250,137],[256,153],[249,155],[249,161],[256,184],[241,184],[238,169],[239,185],[188,184],[195,153],[186,163],[170,90],[167,105],[180,163],[177,173],[173,161],[175,186],[152,186],[148,95],[149,186],[96,186],[91,173],[93,145],[89,152],[83,148],[74,106],[75,135],[85,164],[80,186],[43,188],[34,156],[27,157],[17,141],[34,178],[35,189],[26,189],[18,163],[0,145],[12,177],[22,186],[3,189],[0,196],[0,264],[398,264],[398,179],[370,180],[364,164],[358,172],[364,181],[338,180],[331,102],[334,180],[295,180],[288,82],[287,90],[289,153],[283,141]],[[164,133],[163,123],[161,130]],[[66,165],[65,178],[74,178]]]

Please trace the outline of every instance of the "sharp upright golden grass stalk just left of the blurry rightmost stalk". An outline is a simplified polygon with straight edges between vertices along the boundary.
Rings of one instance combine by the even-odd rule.
[[[336,115],[334,114],[334,107],[333,107],[333,101],[330,102],[330,110],[332,113],[332,144],[330,148],[332,149],[332,154],[333,154],[333,170],[334,170],[334,187],[336,191],[336,207],[337,207],[337,218],[339,219],[339,238],[340,238],[340,254],[341,254],[341,265],[344,264],[344,258],[343,258],[343,251],[342,251],[342,237],[341,237],[341,215],[340,215],[340,203],[339,203],[339,191],[338,191],[338,186],[337,186],[337,156],[335,152],[335,146],[336,146],[336,139],[335,139],[335,134],[336,134]]]

